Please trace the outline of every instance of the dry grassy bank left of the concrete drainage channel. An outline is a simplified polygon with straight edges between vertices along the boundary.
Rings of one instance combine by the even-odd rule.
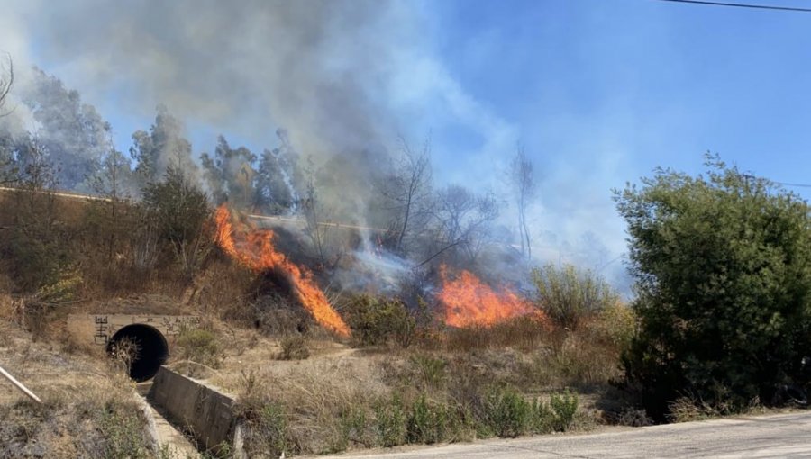
[[[154,457],[132,382],[114,365],[33,342],[0,321],[0,360],[39,395],[0,392],[0,457]],[[4,382],[5,383],[5,382]]]

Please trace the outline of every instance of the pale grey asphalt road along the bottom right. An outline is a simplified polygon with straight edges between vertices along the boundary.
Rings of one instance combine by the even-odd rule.
[[[811,413],[717,419],[597,434],[482,441],[400,451],[377,450],[341,457],[811,457]]]

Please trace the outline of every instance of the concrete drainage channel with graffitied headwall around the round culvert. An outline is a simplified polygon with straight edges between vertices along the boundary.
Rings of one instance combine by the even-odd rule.
[[[180,331],[196,328],[196,316],[95,314],[68,317],[68,330],[79,341],[104,347],[114,355],[122,343],[138,348],[130,365],[142,410],[154,442],[180,457],[205,451],[245,458],[241,426],[233,415],[233,399],[203,382],[178,374],[163,364]],[[151,380],[151,381],[150,381]],[[185,432],[194,438],[196,449]]]

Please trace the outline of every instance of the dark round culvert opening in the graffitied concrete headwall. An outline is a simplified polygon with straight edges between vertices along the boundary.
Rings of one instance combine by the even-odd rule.
[[[132,343],[132,347],[128,345]],[[132,356],[130,377],[138,383],[158,374],[160,365],[169,356],[169,345],[163,334],[149,325],[136,323],[119,329],[107,343],[107,354],[113,356],[118,352],[127,352]]]

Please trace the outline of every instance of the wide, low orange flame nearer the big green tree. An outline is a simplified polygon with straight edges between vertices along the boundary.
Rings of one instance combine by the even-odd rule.
[[[437,298],[445,305],[448,325],[488,326],[527,314],[542,314],[506,286],[496,292],[469,271],[462,270],[455,279],[449,279],[447,271],[446,266],[440,266],[442,290]]]

